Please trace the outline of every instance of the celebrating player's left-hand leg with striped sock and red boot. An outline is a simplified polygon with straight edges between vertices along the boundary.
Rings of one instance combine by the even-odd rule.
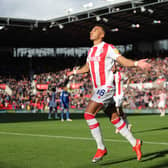
[[[97,152],[92,159],[93,163],[98,162],[107,154],[107,150],[103,142],[103,137],[99,126],[99,122],[95,118],[96,113],[102,108],[102,106],[103,106],[102,104],[99,104],[90,100],[84,113],[84,118],[97,144]]]

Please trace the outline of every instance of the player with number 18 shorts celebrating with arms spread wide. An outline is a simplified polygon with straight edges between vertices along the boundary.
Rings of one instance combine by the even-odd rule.
[[[86,64],[78,70],[73,70],[68,73],[81,74],[91,73],[93,83],[93,95],[89,101],[84,118],[90,128],[91,134],[97,143],[97,152],[92,159],[92,162],[101,160],[106,154],[107,149],[103,142],[100,124],[95,116],[103,107],[106,108],[106,113],[110,117],[111,123],[119,130],[120,134],[124,136],[132,145],[133,150],[136,152],[137,159],[141,159],[141,140],[136,139],[128,130],[126,123],[119,117],[115,104],[112,104],[115,87],[113,84],[114,75],[112,67],[117,61],[122,66],[126,67],[139,67],[141,69],[149,70],[151,65],[147,63],[147,59],[133,61],[122,56],[118,50],[111,44],[103,41],[106,31],[104,26],[96,25],[90,31],[90,40],[93,41],[93,47],[88,52]]]

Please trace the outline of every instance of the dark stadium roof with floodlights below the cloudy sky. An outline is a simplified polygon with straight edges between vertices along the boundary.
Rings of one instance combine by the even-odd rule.
[[[51,20],[0,18],[0,46],[90,46],[95,24],[108,28],[107,41],[129,44],[168,39],[168,0],[127,0]]]

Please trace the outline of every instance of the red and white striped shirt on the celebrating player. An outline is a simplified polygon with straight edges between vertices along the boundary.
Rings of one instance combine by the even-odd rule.
[[[105,42],[90,48],[87,62],[89,63],[94,89],[103,85],[113,86],[112,67],[118,56],[120,56],[118,50]]]

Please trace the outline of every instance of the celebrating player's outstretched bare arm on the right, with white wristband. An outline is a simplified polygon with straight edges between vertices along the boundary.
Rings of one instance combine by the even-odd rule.
[[[148,59],[140,59],[138,61],[133,61],[131,59],[127,59],[125,58],[124,56],[119,56],[117,58],[117,62],[119,62],[121,65],[125,66],[125,67],[133,67],[133,66],[136,66],[136,67],[139,67],[141,69],[144,69],[144,70],[150,70],[151,68],[151,64],[147,63]]]

